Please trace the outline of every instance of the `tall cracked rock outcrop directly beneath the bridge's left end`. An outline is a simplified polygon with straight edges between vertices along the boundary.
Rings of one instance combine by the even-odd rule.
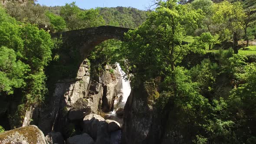
[[[53,96],[43,108],[39,111],[39,128],[44,134],[57,129],[62,131],[62,126],[66,124],[66,115],[72,105],[79,98],[85,98],[89,95],[91,84],[89,75],[88,60],[84,60],[77,72],[75,79],[59,80]],[[98,105],[97,105],[98,108]]]

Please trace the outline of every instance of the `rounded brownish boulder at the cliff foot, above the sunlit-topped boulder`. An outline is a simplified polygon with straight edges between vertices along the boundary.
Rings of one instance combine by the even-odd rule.
[[[92,107],[86,99],[79,98],[75,101],[69,111],[69,120],[79,120],[84,118],[85,115],[92,113]]]

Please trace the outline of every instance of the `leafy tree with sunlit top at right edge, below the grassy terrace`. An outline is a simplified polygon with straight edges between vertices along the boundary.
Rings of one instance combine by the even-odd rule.
[[[245,66],[245,71],[236,73],[240,85],[231,91],[229,99],[229,116],[235,121],[235,134],[241,141],[255,142],[256,126],[256,64]]]

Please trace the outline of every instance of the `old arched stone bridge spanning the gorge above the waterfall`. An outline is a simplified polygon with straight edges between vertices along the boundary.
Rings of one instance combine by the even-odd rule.
[[[61,38],[63,47],[71,50],[78,50],[83,58],[89,55],[92,49],[98,44],[108,39],[124,40],[124,33],[128,28],[117,26],[98,26],[86,29],[77,29],[62,33],[55,33],[52,37]]]

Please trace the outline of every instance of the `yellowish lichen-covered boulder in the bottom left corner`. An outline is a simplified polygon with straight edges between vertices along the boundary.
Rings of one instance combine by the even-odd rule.
[[[42,131],[35,125],[16,128],[0,134],[0,144],[47,144]]]

